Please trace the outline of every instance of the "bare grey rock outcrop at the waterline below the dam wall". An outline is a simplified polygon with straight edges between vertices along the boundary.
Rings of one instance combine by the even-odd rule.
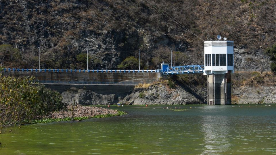
[[[202,90],[206,92],[206,90]],[[111,92],[112,93],[112,92]],[[166,84],[154,84],[149,88],[134,88],[133,92],[126,96],[116,97],[115,94],[102,95],[91,90],[70,89],[62,93],[63,102],[72,105],[73,100],[81,105],[110,105],[119,100],[123,104],[151,105],[151,104],[204,104],[206,93],[197,94],[188,88],[176,85],[170,89]]]

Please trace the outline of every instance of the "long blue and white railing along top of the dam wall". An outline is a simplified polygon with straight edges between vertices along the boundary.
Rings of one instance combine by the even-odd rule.
[[[19,68],[4,68],[4,71],[27,71],[27,72],[66,72],[66,73],[157,73],[161,72],[160,69],[155,69],[155,70],[107,70],[107,69],[19,69]]]

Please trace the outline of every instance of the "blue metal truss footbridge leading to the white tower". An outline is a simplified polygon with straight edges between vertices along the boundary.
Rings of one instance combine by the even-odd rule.
[[[204,66],[203,65],[187,65],[187,66],[173,66],[166,68],[163,71],[163,75],[169,74],[191,74],[191,73],[203,73]]]

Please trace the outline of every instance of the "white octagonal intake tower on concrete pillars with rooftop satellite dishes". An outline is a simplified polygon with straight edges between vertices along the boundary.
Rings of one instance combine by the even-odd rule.
[[[234,42],[226,41],[226,38],[225,41],[205,41],[204,75],[208,76],[207,104],[231,104],[230,73],[234,73]]]

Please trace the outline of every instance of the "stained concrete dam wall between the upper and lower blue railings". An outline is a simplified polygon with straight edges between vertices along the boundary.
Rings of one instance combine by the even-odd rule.
[[[63,81],[63,82],[135,82],[152,83],[158,81],[160,73],[135,72],[135,73],[70,73],[70,72],[35,72],[35,71],[2,71],[3,75],[8,76],[34,76],[39,81]]]

